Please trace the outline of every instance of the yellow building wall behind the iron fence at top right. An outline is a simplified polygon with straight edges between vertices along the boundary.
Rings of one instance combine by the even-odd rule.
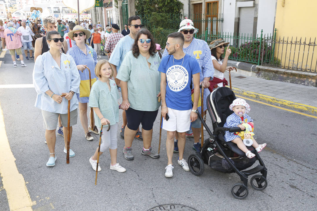
[[[317,35],[317,1],[312,0],[277,0],[275,28],[276,40],[287,40],[288,43],[293,37],[293,42],[301,39],[301,43],[305,41],[309,43],[315,41]],[[286,41],[285,41],[286,42]],[[290,45],[286,51],[286,44],[276,44],[275,57],[281,59],[281,65],[290,66],[288,69],[303,70],[303,71],[316,71],[317,53],[313,55],[313,46],[304,45]],[[281,49],[283,48],[283,53]],[[309,51],[308,51],[309,50]],[[314,51],[317,50],[317,46]],[[278,54],[277,54],[278,53]],[[308,69],[308,70],[307,70]],[[310,70],[312,69],[312,70]]]

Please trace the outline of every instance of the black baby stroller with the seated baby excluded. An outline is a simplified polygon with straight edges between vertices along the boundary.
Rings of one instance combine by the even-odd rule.
[[[223,127],[227,117],[233,113],[229,109],[229,105],[234,99],[236,99],[235,94],[227,87],[220,87],[207,97],[207,109],[211,117],[213,133],[203,121],[202,116],[197,113],[210,137],[205,140],[200,152],[191,154],[188,157],[188,165],[191,173],[197,176],[204,172],[204,164],[223,173],[236,172],[240,176],[242,183],[234,184],[231,188],[231,194],[237,199],[244,199],[249,194],[247,187],[248,176],[261,172],[262,175],[251,177],[251,186],[256,190],[264,190],[267,187],[267,169],[253,146],[248,146],[247,148],[256,156],[247,158],[236,144],[231,141],[226,142],[223,139],[227,130],[230,132],[241,131],[239,127]],[[253,169],[242,171],[252,166],[256,160],[259,160],[259,165]]]

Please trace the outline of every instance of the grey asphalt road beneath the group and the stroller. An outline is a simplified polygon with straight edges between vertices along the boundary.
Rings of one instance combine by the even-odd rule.
[[[13,68],[9,53],[0,69],[0,84],[32,84],[34,60],[28,67]],[[233,84],[234,86],[234,84]],[[141,96],[145,97],[145,96]],[[124,159],[124,140],[118,133],[118,162],[127,171],[109,169],[110,154],[100,156],[102,171],[94,185],[95,171],[89,158],[98,146],[99,136],[87,141],[78,118],[73,127],[71,148],[76,153],[66,164],[63,138],[56,138],[56,165],[46,167],[49,151],[44,143],[41,111],[34,107],[34,88],[0,88],[0,103],[5,129],[16,166],[24,177],[34,205],[33,210],[148,210],[160,204],[184,204],[199,211],[211,210],[315,210],[316,209],[316,125],[317,119],[257,102],[249,115],[255,122],[258,143],[268,146],[260,153],[268,169],[268,187],[257,191],[249,185],[249,196],[233,198],[231,187],[240,182],[235,173],[223,174],[205,165],[197,177],[177,164],[174,153],[174,176],[164,176],[167,165],[162,130],[161,157],[152,159],[141,154],[142,141],[132,145],[133,161]],[[210,117],[207,117],[210,125]],[[120,116],[119,125],[122,123]],[[118,128],[120,131],[120,128]],[[205,132],[205,138],[207,133]],[[152,148],[159,145],[159,116],[153,128]],[[184,157],[194,151],[187,138]],[[257,164],[257,163],[256,163]],[[6,190],[0,181],[0,210],[10,210]]]

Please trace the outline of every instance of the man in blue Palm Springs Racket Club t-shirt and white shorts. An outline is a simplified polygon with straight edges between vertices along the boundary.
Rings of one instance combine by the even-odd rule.
[[[183,52],[184,35],[179,32],[167,36],[165,56],[159,66],[161,72],[161,113],[164,117],[162,128],[167,131],[166,152],[168,164],[165,167],[165,177],[173,176],[174,137],[178,132],[178,164],[189,171],[183,158],[185,148],[185,133],[191,122],[197,119],[199,98],[199,74],[201,72],[197,59]],[[191,106],[191,88],[193,80],[194,105]],[[168,117],[167,117],[168,116]],[[167,120],[166,120],[167,118]]]

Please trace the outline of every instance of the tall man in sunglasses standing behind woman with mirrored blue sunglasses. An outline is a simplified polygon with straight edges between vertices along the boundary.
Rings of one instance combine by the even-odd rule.
[[[113,52],[109,58],[109,63],[113,69],[113,77],[117,85],[120,86],[120,80],[117,77],[117,71],[120,71],[120,65],[129,51],[131,51],[131,47],[134,43],[134,39],[138,34],[138,31],[142,28],[141,19],[139,16],[131,16],[128,19],[128,27],[130,29],[130,34],[122,37],[117,43],[116,47],[114,47]],[[124,137],[124,130],[127,124],[126,121],[126,112],[122,112],[123,125],[121,126],[120,135]],[[139,130],[135,134],[135,138],[143,141],[142,132]]]

